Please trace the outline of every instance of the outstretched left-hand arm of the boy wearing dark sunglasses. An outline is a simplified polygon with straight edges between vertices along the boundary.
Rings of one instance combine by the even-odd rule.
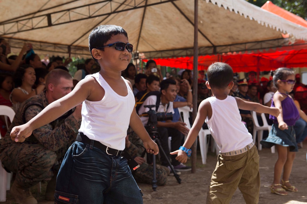
[[[72,92],[49,104],[26,124],[14,127],[10,133],[11,139],[15,142],[24,142],[33,130],[56,120],[68,110],[82,103],[90,95],[91,83],[93,83],[91,78],[80,81]]]

